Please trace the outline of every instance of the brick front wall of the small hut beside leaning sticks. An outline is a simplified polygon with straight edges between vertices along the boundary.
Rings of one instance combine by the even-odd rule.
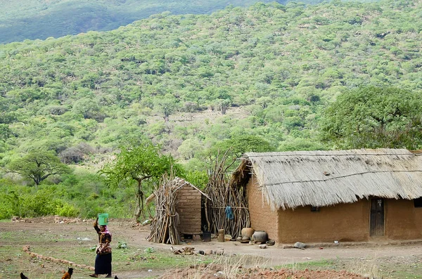
[[[202,194],[195,188],[185,185],[177,190],[176,212],[179,213],[179,232],[198,235],[200,228],[200,199]]]

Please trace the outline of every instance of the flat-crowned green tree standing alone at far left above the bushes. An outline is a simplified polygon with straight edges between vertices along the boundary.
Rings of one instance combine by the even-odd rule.
[[[60,162],[52,150],[33,150],[22,158],[11,161],[7,171],[32,179],[39,186],[49,176],[70,173],[70,168]]]

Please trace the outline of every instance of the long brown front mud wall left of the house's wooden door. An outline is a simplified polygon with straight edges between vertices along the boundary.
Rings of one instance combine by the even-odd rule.
[[[369,201],[311,207],[279,209],[279,242],[339,242],[369,240]]]

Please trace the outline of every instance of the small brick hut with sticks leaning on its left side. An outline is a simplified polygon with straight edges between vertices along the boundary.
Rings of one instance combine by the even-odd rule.
[[[188,181],[176,177],[164,178],[160,187],[146,199],[155,200],[155,217],[151,223],[149,241],[180,243],[180,235],[200,235],[205,193]]]

